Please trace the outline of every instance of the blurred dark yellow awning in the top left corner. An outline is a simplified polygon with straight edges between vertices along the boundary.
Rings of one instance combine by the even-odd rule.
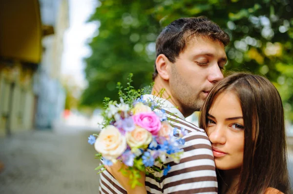
[[[47,29],[47,33],[52,33],[52,29]],[[1,58],[39,63],[42,56],[41,39],[38,0],[0,0]]]

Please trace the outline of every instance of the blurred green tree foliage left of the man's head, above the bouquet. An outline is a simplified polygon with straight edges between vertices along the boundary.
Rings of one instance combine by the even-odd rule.
[[[105,96],[117,99],[116,83],[126,83],[130,72],[135,88],[150,84],[154,42],[161,29],[151,14],[154,6],[152,0],[101,0],[90,18],[101,26],[89,43],[92,55],[85,59],[89,86],[82,104],[101,105]]]

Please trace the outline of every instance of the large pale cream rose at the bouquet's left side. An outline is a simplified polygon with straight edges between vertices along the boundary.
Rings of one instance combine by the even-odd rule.
[[[113,125],[107,125],[99,134],[95,142],[95,149],[105,159],[117,159],[126,150],[126,138],[119,129]]]

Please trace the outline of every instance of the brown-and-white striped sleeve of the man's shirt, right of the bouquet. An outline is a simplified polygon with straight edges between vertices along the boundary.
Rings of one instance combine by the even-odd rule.
[[[176,116],[172,125],[188,131],[180,163],[167,160],[171,170],[163,176],[164,194],[217,194],[217,178],[211,144],[203,129]],[[169,117],[169,118],[170,118]]]

